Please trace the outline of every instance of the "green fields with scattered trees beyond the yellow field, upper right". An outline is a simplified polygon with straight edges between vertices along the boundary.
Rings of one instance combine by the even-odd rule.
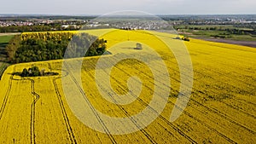
[[[207,41],[255,46],[255,32],[250,26],[232,25],[188,25],[177,26],[181,35],[204,39]]]

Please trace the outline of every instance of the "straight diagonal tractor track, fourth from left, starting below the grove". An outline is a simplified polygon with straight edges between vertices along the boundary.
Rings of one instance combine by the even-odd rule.
[[[65,66],[66,69],[67,69],[67,64],[65,63],[65,61],[63,61],[63,64],[64,64],[64,66]],[[103,123],[102,118],[100,118],[100,116],[99,116],[98,113],[96,112],[95,108],[91,105],[90,101],[88,100],[88,98],[87,98],[86,95],[84,94],[84,90],[83,90],[82,88],[80,88],[80,86],[79,86],[79,84],[78,84],[76,78],[74,78],[74,76],[73,76],[73,73],[72,73],[72,72],[69,72],[68,69],[67,69],[67,72],[69,73],[69,75],[70,75],[71,78],[73,79],[74,83],[77,85],[77,87],[78,87],[80,93],[84,96],[84,100],[85,100],[85,101],[87,102],[87,104],[90,106],[90,110],[95,114],[95,116],[96,116],[98,122],[99,122],[100,124],[102,124],[102,128],[104,129],[105,133],[108,135],[110,141],[112,141],[113,144],[116,144],[117,142],[114,140],[113,135],[109,132],[109,130],[108,130],[106,124]]]

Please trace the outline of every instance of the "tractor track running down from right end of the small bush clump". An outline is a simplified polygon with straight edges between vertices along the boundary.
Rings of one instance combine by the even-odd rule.
[[[61,77],[59,77],[59,78],[61,78]],[[61,100],[60,91],[59,91],[58,86],[56,84],[56,80],[59,79],[59,78],[54,78],[53,79],[53,84],[55,86],[55,93],[58,97],[58,101],[59,101],[59,104],[60,104],[60,107],[61,107],[61,113],[62,113],[63,119],[65,121],[65,124],[66,124],[67,132],[68,132],[68,135],[69,135],[69,140],[71,141],[72,144],[77,144],[78,142],[76,141],[75,136],[73,134],[71,124],[69,123],[69,119],[67,117],[66,109],[64,107],[63,101]]]

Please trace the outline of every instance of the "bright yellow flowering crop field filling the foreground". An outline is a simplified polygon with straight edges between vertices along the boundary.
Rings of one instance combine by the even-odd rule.
[[[173,123],[169,121],[172,109],[177,101],[180,86],[180,70],[177,60],[166,45],[178,49],[170,34],[143,31],[91,30],[90,34],[102,36],[108,40],[108,50],[112,55],[87,57],[81,68],[82,85],[77,83],[79,72],[76,65],[62,60],[24,63],[9,66],[0,80],[0,141],[1,143],[255,143],[256,142],[256,49],[226,43],[213,43],[192,39],[184,42],[189,50],[194,69],[194,85],[189,104],[183,114]],[[129,41],[127,41],[129,39]],[[136,42],[143,43],[143,49],[134,49]],[[127,105],[116,105],[106,101],[97,89],[96,64],[98,60],[114,61],[115,55],[147,56],[148,49],[154,49],[166,64],[169,72],[171,92],[163,112],[145,129],[125,135],[113,135],[111,131],[119,127],[109,127],[102,121],[99,112],[115,117],[129,118],[142,112],[152,101],[155,82],[165,85],[165,78],[154,79],[153,71],[160,72],[158,58],[151,56],[148,61],[154,63],[148,67],[145,63],[126,59],[111,67],[110,84],[119,95],[129,92],[127,81],[136,76],[140,78],[142,92],[135,101]],[[73,59],[79,63],[81,59]],[[23,68],[38,66],[46,72],[59,72],[62,75],[41,78],[20,78],[13,72],[22,72]],[[109,67],[102,67],[105,73]],[[79,71],[79,70],[78,70]],[[63,78],[69,89],[63,89]],[[103,79],[103,78],[102,78]],[[76,85],[71,85],[76,84]],[[99,87],[105,89],[108,82]],[[135,84],[136,85],[136,84]],[[84,89],[74,91],[75,89]],[[79,121],[67,104],[64,92],[85,95],[84,100],[90,106],[94,117],[85,119],[92,124],[101,125],[105,133],[97,132]],[[157,94],[159,97],[163,96]],[[108,94],[113,99],[112,94]],[[136,95],[134,95],[136,96]],[[69,100],[72,101],[72,100]],[[79,101],[77,101],[79,103]],[[95,121],[92,119],[96,119]],[[129,127],[140,128],[140,124],[130,118]],[[146,120],[145,120],[146,121]],[[146,123],[142,121],[142,123]],[[142,124],[142,125],[143,125]],[[125,125],[125,124],[124,124]],[[128,127],[127,127],[128,129]],[[121,129],[120,129],[121,131]]]

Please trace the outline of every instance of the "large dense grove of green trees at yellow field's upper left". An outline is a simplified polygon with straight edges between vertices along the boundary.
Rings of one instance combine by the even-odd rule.
[[[104,39],[87,33],[44,32],[17,35],[6,50],[12,63],[102,55],[106,51]],[[85,54],[85,55],[83,55]]]

